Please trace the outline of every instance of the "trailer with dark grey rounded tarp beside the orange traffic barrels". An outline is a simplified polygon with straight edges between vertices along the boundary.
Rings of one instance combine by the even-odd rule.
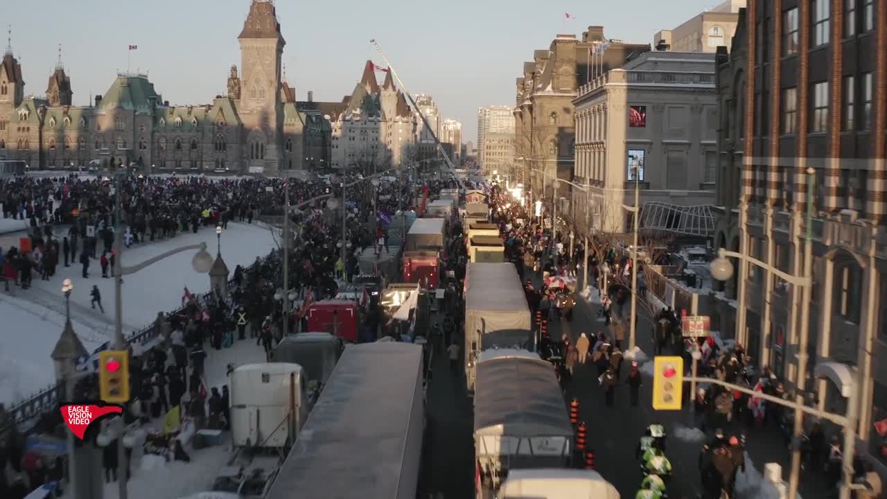
[[[511,470],[568,467],[573,427],[552,364],[523,350],[482,352],[474,436],[479,499],[494,497]]]

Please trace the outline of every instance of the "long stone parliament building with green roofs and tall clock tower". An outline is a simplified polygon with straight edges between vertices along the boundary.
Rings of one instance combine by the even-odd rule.
[[[298,107],[282,77],[286,42],[272,2],[252,1],[238,41],[240,67],[231,67],[227,95],[192,106],[171,106],[147,75],[125,73],[94,104],[75,107],[60,62],[45,97],[26,98],[20,64],[7,47],[0,70],[0,159],[26,162],[32,170],[114,162],[145,172],[274,174],[328,165],[330,127],[318,121],[322,115]]]

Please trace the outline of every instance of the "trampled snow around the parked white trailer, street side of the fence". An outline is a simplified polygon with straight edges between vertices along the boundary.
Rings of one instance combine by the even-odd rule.
[[[222,350],[216,350],[209,345],[204,347],[208,354],[205,366],[207,386],[218,387],[219,392],[222,385],[228,383],[226,376],[228,364],[241,366],[265,361],[263,348],[255,345],[255,339],[235,341],[231,348]],[[162,419],[155,420],[151,424],[156,429],[161,429],[162,425]],[[128,499],[177,499],[209,490],[216,475],[227,465],[232,455],[231,433],[223,433],[221,445],[200,450],[194,450],[188,445],[184,450],[191,456],[191,463],[181,461],[163,463],[153,459],[153,456],[144,459],[141,448],[134,449],[132,478],[127,487]],[[106,484],[104,497],[105,499],[120,497],[119,485],[116,482]]]

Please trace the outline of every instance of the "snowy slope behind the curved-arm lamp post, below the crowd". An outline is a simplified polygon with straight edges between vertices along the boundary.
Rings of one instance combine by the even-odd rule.
[[[136,244],[130,249],[123,249],[122,264],[136,265],[170,249],[200,242],[206,242],[208,252],[215,257],[216,231],[210,227],[201,227],[197,234],[178,234],[172,239]],[[271,230],[264,225],[232,222],[228,225],[228,230],[222,233],[222,257],[228,265],[229,277],[234,273],[235,266],[250,265],[255,257],[264,257],[276,247]],[[196,253],[196,250],[184,251],[125,276],[123,322],[144,327],[157,318],[158,312],[169,313],[180,307],[185,287],[194,294],[208,291],[209,275],[194,272],[191,265]],[[100,256],[98,252],[97,255]],[[59,265],[56,276],[50,281],[35,278],[33,284],[35,288],[59,294],[61,280],[69,277],[75,286],[71,303],[87,307],[90,306],[90,289],[93,285],[98,285],[105,313],[113,318],[114,280],[102,279],[98,259],[90,261],[89,279],[83,279],[81,271],[82,265],[79,263],[70,267]],[[27,293],[22,295],[27,297]]]

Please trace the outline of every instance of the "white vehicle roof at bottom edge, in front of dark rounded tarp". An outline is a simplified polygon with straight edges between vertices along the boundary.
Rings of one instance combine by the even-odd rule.
[[[592,470],[514,470],[499,488],[508,499],[619,499],[613,484]]]

